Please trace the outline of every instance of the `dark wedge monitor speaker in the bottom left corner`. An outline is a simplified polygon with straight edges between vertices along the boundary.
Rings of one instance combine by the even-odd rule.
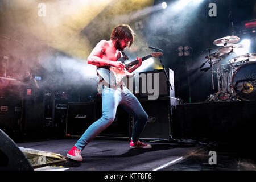
[[[19,147],[1,129],[0,171],[34,171]]]

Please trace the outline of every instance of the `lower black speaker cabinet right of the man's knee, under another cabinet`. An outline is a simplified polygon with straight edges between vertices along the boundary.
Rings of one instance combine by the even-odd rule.
[[[148,121],[141,133],[141,139],[170,139],[171,106],[170,98],[159,100],[141,100],[148,115]],[[135,122],[135,121],[134,121]]]

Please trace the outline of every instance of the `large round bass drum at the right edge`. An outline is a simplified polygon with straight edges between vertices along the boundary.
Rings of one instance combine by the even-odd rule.
[[[243,64],[232,76],[232,88],[245,100],[256,100],[256,61]]]

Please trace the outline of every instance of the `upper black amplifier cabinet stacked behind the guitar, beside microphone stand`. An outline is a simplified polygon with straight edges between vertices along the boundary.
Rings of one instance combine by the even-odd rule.
[[[155,93],[148,92],[148,89],[152,89],[152,90],[158,89],[159,98],[175,97],[174,71],[172,71],[170,68],[166,68],[166,73],[167,73],[167,76],[169,77],[172,89],[170,86],[167,85],[167,78],[163,69],[139,73],[139,97],[143,98],[143,97],[153,96],[155,94]],[[148,85],[148,81],[150,81],[148,80],[148,78],[151,78],[152,86]],[[158,84],[155,84],[155,81],[154,81],[155,78],[156,78],[156,81],[158,81]],[[158,85],[158,88],[155,88],[155,85],[156,86]],[[145,86],[146,88],[144,88]],[[146,89],[146,93],[145,93],[145,89]]]

